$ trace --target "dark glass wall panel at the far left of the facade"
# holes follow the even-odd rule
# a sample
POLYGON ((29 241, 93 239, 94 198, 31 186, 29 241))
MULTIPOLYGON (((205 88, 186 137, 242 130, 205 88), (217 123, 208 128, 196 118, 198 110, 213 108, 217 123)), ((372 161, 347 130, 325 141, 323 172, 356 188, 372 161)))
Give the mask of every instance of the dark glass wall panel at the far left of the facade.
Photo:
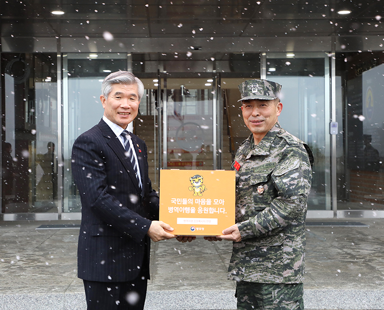
POLYGON ((1 212, 57 212, 56 55, 1 53, 1 212))

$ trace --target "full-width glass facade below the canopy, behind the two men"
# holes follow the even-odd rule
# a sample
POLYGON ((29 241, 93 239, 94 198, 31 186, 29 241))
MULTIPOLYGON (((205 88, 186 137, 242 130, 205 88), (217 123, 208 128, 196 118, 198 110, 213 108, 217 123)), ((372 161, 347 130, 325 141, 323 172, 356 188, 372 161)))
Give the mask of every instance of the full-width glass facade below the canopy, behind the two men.
POLYGON ((280 124, 314 152, 309 209, 383 209, 381 52, 336 53, 335 167, 331 167, 329 54, 265 53, 264 73, 260 53, 178 61, 171 56, 65 53, 63 96, 58 102, 56 54, 1 53, 1 213, 61 211, 63 219, 71 218, 66 214, 76 218, 81 204, 71 176, 72 144, 103 115, 99 96, 105 76, 131 67, 145 85, 132 130, 148 145, 155 189, 160 169, 229 169, 237 148, 248 136, 237 103, 237 85, 264 74, 283 86, 280 124), (259 70, 246 69, 255 66, 259 70), (195 70, 192 73, 191 68, 195 70), (332 205, 333 169, 337 206, 332 205))

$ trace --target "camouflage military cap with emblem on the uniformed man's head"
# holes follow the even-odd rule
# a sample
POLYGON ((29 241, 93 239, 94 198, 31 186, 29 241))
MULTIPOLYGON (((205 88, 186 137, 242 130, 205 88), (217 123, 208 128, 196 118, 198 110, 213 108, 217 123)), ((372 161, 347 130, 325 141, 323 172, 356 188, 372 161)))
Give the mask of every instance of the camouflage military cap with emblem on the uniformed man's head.
POLYGON ((281 85, 276 82, 267 80, 246 80, 239 86, 241 99, 261 99, 261 100, 274 100, 279 98, 281 85))

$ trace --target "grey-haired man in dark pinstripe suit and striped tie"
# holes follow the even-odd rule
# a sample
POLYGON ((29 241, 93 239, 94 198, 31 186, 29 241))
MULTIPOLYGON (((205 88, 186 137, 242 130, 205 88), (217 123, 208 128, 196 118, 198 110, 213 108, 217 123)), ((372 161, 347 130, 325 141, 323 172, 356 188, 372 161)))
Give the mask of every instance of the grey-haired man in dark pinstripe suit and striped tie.
POLYGON ((148 178, 147 147, 129 133, 144 93, 132 73, 109 74, 102 84, 103 119, 72 148, 82 221, 78 277, 88 310, 144 308, 150 239, 175 238, 158 218, 158 196, 148 178))

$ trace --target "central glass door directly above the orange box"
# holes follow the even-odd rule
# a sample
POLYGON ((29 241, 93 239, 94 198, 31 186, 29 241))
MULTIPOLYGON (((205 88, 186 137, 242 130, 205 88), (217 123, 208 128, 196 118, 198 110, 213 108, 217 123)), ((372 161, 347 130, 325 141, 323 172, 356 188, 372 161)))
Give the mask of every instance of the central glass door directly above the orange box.
POLYGON ((162 81, 162 168, 217 169, 212 74, 192 78, 169 74, 162 81))

